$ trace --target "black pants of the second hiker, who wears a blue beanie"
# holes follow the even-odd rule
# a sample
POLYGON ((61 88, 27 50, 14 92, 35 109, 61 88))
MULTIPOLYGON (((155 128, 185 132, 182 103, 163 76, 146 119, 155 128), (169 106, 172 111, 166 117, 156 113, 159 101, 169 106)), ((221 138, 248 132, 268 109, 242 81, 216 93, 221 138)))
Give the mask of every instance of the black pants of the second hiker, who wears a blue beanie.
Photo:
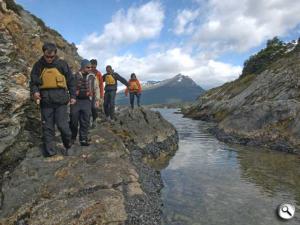
POLYGON ((79 125, 79 141, 88 140, 88 129, 90 126, 91 100, 77 99, 76 104, 71 105, 70 127, 72 139, 76 139, 79 125))

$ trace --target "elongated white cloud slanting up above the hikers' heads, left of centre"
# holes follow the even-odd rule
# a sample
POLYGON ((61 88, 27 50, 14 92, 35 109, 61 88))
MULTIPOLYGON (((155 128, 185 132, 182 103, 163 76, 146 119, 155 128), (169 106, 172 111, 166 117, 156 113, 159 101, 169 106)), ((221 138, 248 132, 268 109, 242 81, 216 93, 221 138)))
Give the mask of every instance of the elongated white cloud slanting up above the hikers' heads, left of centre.
POLYGON ((157 1, 131 7, 127 12, 119 10, 101 35, 93 33, 83 39, 77 46, 79 54, 100 58, 112 54, 120 45, 156 37, 163 27, 163 19, 164 11, 157 1))

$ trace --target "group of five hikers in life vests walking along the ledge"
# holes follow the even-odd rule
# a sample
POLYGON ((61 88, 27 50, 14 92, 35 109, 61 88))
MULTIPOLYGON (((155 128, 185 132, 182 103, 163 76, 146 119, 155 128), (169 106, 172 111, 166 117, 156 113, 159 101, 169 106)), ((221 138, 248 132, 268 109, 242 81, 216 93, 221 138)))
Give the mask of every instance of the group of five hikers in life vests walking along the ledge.
POLYGON ((79 71, 73 74, 67 62, 57 56, 54 43, 45 43, 42 50, 43 56, 33 65, 30 74, 30 92, 40 105, 42 153, 45 157, 56 155, 55 125, 61 133, 63 154, 68 155, 78 133, 80 145, 89 145, 88 130, 96 126, 100 108, 104 108, 107 121, 116 119, 117 81, 126 86, 125 95, 130 95, 131 108, 134 108, 135 97, 140 106, 142 90, 134 73, 127 81, 107 65, 106 73, 102 76, 97 70, 96 59, 83 59, 79 71))

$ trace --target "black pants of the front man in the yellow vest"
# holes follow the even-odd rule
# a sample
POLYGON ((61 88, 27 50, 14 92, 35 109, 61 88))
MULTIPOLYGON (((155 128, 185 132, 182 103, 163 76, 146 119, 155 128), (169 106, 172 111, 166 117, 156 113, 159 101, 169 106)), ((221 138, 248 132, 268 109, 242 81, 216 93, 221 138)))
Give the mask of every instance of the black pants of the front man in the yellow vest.
POLYGON ((60 131, 64 146, 71 141, 71 130, 69 127, 69 116, 67 105, 41 106, 42 129, 43 129, 43 154, 45 156, 54 154, 53 139, 55 136, 55 124, 60 131))

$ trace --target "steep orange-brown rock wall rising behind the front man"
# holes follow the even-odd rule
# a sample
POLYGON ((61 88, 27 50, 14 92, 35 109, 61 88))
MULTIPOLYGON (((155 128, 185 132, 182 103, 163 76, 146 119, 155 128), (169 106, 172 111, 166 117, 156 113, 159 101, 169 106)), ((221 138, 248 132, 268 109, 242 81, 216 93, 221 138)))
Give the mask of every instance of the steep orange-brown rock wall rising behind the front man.
MULTIPOLYGON (((28 78, 33 63, 42 55, 45 41, 58 46, 58 55, 77 69, 80 57, 56 31, 16 5, 0 0, 0 154, 22 139, 30 104, 28 78)), ((38 115, 38 114, 37 114, 38 115)))

